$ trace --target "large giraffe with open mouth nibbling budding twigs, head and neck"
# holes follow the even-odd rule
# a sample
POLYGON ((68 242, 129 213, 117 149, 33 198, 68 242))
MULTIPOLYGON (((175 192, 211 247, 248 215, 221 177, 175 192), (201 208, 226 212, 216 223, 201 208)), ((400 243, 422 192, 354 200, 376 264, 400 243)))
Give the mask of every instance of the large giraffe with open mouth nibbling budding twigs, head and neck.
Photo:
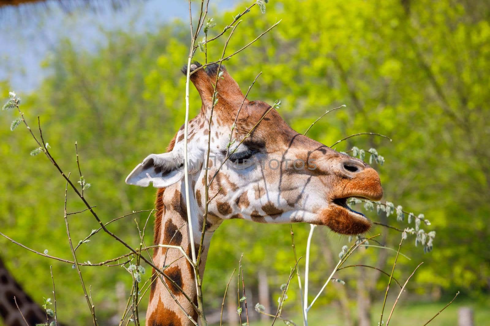
MULTIPOLYGON (((181 246, 189 256, 190 241, 198 247, 206 204, 205 187, 214 174, 216 177, 209 186, 212 200, 204 226, 201 276, 211 237, 225 219, 259 223, 307 222, 325 225, 345 235, 368 231, 371 226, 368 218, 350 209, 346 200, 349 197, 381 199, 383 189, 374 169, 362 160, 336 152, 294 131, 267 103, 245 99, 224 65, 202 67, 193 62, 190 67, 191 81, 202 102, 200 112, 189 121, 187 139, 194 239, 189 238, 184 191, 184 126, 173 137, 167 152, 148 155, 126 178, 130 185, 147 187, 152 183, 158 188, 155 244, 181 246), (218 102, 214 106, 211 130, 208 130, 219 68, 222 75, 216 86, 218 102), (228 149, 231 132, 236 141, 228 149), (205 180, 208 135, 211 136, 210 160, 205 180), (227 152, 231 156, 219 170, 227 152)), ((182 70, 186 73, 187 66, 182 70)), ((194 270, 177 249, 157 248, 153 261, 160 268, 165 266, 165 273, 196 302, 194 270)), ((154 270, 151 278, 154 282, 151 283, 146 325, 193 325, 182 311, 197 321, 189 301, 172 283, 164 280, 166 284, 163 284, 154 270)))

